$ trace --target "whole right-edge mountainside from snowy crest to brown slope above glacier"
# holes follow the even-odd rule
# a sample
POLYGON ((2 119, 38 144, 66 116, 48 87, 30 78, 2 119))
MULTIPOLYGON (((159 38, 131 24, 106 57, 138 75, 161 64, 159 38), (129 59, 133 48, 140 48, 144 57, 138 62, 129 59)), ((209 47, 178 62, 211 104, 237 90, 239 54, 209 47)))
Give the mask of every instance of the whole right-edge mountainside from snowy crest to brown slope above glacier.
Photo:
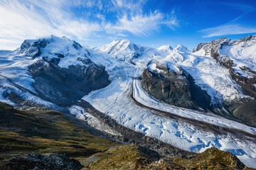
POLYGON ((225 108, 236 118, 256 123, 256 35, 240 40, 220 38, 212 42, 200 43, 193 53, 213 57, 229 71, 233 81, 239 84, 245 95, 252 98, 235 98, 225 102, 225 108), (254 98, 254 99, 253 99, 254 98))

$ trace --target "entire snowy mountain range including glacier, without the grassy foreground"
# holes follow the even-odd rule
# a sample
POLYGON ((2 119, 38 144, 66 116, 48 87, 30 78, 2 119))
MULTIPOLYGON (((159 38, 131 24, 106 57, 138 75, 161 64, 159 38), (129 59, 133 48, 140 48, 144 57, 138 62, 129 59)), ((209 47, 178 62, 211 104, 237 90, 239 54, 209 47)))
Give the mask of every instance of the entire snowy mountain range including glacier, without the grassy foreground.
POLYGON ((99 49, 65 37, 25 40, 0 52, 0 101, 63 109, 97 124, 107 118, 73 104, 86 101, 112 119, 105 123, 191 152, 217 147, 256 167, 255 99, 234 79, 254 77, 255 49, 255 36, 201 43, 193 52, 129 40, 99 49))

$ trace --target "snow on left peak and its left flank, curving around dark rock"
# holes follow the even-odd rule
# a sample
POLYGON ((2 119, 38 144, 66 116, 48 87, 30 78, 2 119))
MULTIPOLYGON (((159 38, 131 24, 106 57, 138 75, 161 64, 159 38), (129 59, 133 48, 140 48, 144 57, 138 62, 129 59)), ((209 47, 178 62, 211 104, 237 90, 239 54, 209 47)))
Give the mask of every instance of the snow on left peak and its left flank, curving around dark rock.
MULTIPOLYGON (((0 89, 1 101, 9 101, 8 94, 14 92, 26 101, 32 101, 44 106, 54 106, 53 103, 44 101, 38 97, 33 84, 35 79, 28 72, 28 67, 40 61, 47 61, 57 64, 60 68, 68 68, 71 65, 86 67, 90 64, 91 54, 87 48, 82 47, 78 42, 68 38, 58 38, 51 35, 49 38, 39 40, 24 40, 21 47, 14 51, 0 52, 0 89), (21 91, 10 83, 31 91, 31 93, 21 91), (24 94, 22 94, 24 93, 24 94)), ((52 107, 57 108, 57 107, 52 107)))

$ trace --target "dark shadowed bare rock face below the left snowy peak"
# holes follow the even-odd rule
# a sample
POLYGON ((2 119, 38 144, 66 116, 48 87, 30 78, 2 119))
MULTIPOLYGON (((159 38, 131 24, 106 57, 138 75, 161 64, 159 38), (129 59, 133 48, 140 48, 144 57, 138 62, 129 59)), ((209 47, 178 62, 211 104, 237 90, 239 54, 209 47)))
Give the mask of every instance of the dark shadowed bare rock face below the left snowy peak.
POLYGON ((42 59, 28 67, 28 74, 35 80, 33 88, 46 101, 65 106, 110 84, 105 67, 84 61, 86 65, 60 68, 55 62, 42 59))

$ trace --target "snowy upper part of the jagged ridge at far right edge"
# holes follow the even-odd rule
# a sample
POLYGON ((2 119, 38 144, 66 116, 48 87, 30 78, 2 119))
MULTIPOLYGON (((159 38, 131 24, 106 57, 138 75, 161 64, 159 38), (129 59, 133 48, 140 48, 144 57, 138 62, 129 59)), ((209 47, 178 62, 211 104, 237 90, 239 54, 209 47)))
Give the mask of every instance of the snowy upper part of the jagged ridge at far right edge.
POLYGON ((240 40, 230 40, 220 38, 212 42, 200 43, 193 52, 196 55, 211 56, 214 52, 219 53, 220 57, 228 56, 233 60, 233 69, 244 77, 254 77, 251 72, 246 72, 241 68, 249 68, 256 72, 256 35, 249 35, 240 40))

